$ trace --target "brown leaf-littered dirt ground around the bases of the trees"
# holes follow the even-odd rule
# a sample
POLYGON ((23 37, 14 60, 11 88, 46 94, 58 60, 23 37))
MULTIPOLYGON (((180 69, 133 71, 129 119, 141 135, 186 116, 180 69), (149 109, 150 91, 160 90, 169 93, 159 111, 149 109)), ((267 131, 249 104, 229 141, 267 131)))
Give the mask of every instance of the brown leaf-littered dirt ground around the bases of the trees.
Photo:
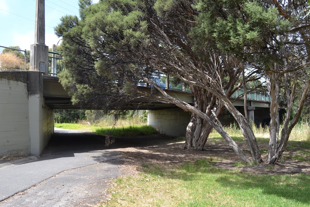
MULTIPOLYGON (((125 160, 127 170, 131 170, 132 174, 142 170, 142 164, 158 164, 158 165, 178 165, 184 162, 193 162, 198 159, 211 159, 214 160, 214 166, 217 168, 242 170, 249 173, 264 173, 264 174, 294 174, 294 173, 307 173, 310 174, 310 162, 292 160, 294 155, 298 155, 296 151, 299 148, 289 147, 283 157, 281 163, 277 165, 267 165, 265 163, 256 165, 242 165, 240 159, 236 156, 234 151, 223 140, 210 140, 206 142, 203 151, 184 150, 185 142, 165 142, 156 143, 156 137, 145 136, 145 139, 152 140, 149 146, 136 146, 126 147, 121 146, 116 149, 125 160), (239 164, 238 164, 239 163, 239 164)), ((132 137, 135 139, 134 137, 132 137)), ((168 139, 168 137, 167 137, 168 139)), ((161 139, 162 140, 162 139, 161 139)), ((115 143, 117 148, 118 143, 115 143)), ((247 150, 246 142, 237 142, 237 144, 245 151, 250 157, 250 151, 247 150)), ((263 160, 267 159, 268 142, 259 143, 259 148, 265 150, 262 153, 263 160)))

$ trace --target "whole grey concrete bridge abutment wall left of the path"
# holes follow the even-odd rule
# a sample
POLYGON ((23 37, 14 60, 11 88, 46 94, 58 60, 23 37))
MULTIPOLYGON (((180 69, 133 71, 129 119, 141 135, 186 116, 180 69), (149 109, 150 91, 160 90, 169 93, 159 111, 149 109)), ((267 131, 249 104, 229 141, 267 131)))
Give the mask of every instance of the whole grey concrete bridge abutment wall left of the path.
POLYGON ((0 155, 40 155, 54 132, 39 71, 0 72, 0 155))

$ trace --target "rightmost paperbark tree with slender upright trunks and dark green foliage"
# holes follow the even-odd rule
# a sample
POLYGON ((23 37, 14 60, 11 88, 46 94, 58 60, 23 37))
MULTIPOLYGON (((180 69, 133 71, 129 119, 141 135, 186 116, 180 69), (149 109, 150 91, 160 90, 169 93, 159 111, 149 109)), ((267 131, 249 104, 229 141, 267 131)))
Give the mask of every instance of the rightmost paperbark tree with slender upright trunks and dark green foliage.
POLYGON ((309 90, 309 19, 304 1, 216 1, 215 7, 207 7, 210 2, 213 1, 198 4, 201 19, 210 23, 203 25, 204 31, 213 35, 222 50, 238 54, 266 74, 271 96, 267 161, 275 164, 299 120, 309 90), (296 87, 303 91, 298 99, 296 87), (281 92, 284 92, 282 99, 281 92), (286 102, 287 113, 279 142, 281 100, 286 102), (290 121, 294 101, 299 106, 290 121))

